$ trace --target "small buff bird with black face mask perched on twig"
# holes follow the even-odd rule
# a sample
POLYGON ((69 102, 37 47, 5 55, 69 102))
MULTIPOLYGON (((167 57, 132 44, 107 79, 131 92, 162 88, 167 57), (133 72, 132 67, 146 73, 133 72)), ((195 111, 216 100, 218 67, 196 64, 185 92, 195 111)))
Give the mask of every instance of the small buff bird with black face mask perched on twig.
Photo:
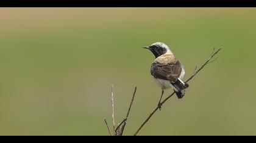
POLYGON ((187 83, 182 81, 185 68, 163 42, 155 42, 143 48, 150 50, 155 56, 151 64, 151 75, 156 84, 162 89, 162 95, 158 102, 158 107, 161 110, 161 100, 165 90, 172 88, 179 99, 185 95, 185 89, 189 87, 187 83))

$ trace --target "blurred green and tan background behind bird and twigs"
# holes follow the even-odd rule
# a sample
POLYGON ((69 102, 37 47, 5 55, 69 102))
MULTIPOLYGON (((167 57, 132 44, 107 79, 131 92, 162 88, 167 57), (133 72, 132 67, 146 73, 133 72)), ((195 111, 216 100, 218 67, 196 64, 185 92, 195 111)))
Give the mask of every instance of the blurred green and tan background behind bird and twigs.
MULTIPOLYGON (((124 135, 156 107, 143 46, 165 42, 185 79, 139 135, 256 135, 256 8, 0 8, 0 135, 108 135, 137 96, 124 135)), ((165 93, 165 97, 172 90, 165 93)))

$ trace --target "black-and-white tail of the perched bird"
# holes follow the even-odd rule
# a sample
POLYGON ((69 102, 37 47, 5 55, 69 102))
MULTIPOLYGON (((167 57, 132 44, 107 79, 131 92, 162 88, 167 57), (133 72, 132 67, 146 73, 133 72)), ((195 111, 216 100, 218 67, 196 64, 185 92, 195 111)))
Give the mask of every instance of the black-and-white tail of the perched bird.
POLYGON ((177 98, 181 99, 185 95, 185 89, 189 87, 187 83, 184 83, 182 80, 179 78, 177 81, 172 84, 174 86, 173 90, 177 95, 177 98))

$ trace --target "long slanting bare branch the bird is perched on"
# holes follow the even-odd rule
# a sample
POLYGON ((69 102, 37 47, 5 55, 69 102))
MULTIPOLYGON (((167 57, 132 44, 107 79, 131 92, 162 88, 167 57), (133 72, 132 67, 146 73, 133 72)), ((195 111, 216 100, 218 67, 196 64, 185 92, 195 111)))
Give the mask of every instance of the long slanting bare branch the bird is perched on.
MULTIPOLYGON (((185 81, 185 82, 188 82, 188 81, 190 81, 191 79, 193 79, 194 76, 196 76, 197 73, 199 73, 199 71, 201 71, 202 68, 205 67, 205 65, 210 64, 210 60, 211 60, 221 49, 222 49, 222 48, 219 48, 219 49, 215 52, 215 48, 213 48, 213 52, 212 52, 212 55, 210 56, 210 58, 208 58, 207 61, 206 61, 204 64, 202 64, 201 67, 200 67, 198 70, 196 70, 196 72, 194 72, 193 75, 192 75, 190 78, 188 78, 187 81, 185 81)), ((215 61, 215 60, 213 60, 213 61, 215 61)), ((213 62, 213 61, 211 61, 211 62, 213 62)), ((160 103, 160 105, 162 106, 169 98, 171 98, 172 95, 174 95, 174 92, 173 92, 171 95, 169 95, 167 98, 165 98, 165 99, 160 103)), ((141 126, 138 128, 138 130, 134 133, 134 136, 136 136, 136 135, 138 134, 138 132, 141 130, 141 128, 143 128, 144 125, 149 121, 149 119, 151 119, 151 117, 154 115, 154 113, 158 110, 159 107, 160 107, 160 106, 157 106, 157 107, 152 111, 152 113, 148 116, 148 118, 143 122, 143 124, 141 124, 141 126)))

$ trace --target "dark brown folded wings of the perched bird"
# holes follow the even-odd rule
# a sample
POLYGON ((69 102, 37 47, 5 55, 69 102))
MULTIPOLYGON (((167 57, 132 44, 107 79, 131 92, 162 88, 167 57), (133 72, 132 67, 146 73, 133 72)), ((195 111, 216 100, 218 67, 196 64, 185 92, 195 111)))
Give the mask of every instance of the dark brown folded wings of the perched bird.
POLYGON ((172 83, 177 81, 181 72, 182 65, 177 60, 168 64, 161 64, 155 61, 151 65, 151 75, 154 76, 154 78, 169 80, 172 83))

